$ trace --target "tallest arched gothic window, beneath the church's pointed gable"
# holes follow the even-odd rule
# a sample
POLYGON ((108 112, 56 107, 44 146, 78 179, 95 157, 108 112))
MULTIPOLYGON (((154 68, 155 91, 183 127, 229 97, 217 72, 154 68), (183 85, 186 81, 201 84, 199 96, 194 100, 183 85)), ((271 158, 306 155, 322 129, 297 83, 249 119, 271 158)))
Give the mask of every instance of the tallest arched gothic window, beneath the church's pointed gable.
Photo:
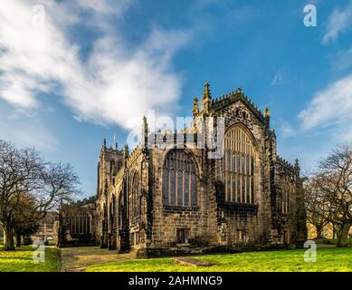
POLYGON ((240 126, 224 136, 222 176, 226 202, 254 203, 254 146, 240 126))

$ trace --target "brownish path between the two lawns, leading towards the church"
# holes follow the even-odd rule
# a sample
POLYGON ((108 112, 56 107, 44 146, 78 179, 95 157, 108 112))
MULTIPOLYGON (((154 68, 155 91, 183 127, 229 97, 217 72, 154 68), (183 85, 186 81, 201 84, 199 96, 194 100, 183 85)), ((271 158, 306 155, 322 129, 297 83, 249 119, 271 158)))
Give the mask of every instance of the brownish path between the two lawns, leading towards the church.
POLYGON ((116 250, 100 247, 62 248, 62 271, 84 272, 87 266, 134 258, 133 254, 117 254, 116 250))

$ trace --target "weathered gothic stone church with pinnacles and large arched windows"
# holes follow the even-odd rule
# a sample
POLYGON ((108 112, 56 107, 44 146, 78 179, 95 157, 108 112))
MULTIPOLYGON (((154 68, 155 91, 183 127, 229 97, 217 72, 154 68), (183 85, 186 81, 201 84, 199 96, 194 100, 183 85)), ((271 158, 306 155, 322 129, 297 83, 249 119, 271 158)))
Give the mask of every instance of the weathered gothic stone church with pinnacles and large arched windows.
POLYGON ((224 118, 221 159, 208 158, 206 142, 203 148, 177 146, 185 143, 184 133, 165 133, 171 142, 158 146, 146 119, 141 145, 132 152, 104 140, 91 228, 100 247, 159 256, 303 244, 299 162, 277 155, 269 110, 262 113, 240 88, 213 99, 208 83, 201 102, 199 108, 195 99, 194 119, 224 118))

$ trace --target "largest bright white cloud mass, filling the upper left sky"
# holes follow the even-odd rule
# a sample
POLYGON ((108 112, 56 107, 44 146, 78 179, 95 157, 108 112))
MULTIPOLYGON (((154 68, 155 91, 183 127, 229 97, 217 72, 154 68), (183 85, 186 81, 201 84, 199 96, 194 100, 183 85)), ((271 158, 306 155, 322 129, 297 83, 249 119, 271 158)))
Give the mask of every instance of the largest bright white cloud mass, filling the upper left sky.
POLYGON ((55 94, 77 120, 126 129, 135 127, 148 109, 172 111, 181 78, 172 70, 171 58, 190 34, 153 28, 144 43, 131 47, 105 14, 121 13, 133 1, 77 1, 39 1, 46 12, 43 27, 32 22, 38 1, 0 2, 0 98, 15 108, 34 110, 40 105, 39 92, 55 94), (109 26, 91 43, 85 62, 81 47, 69 37, 73 24, 85 21, 81 7, 109 26))

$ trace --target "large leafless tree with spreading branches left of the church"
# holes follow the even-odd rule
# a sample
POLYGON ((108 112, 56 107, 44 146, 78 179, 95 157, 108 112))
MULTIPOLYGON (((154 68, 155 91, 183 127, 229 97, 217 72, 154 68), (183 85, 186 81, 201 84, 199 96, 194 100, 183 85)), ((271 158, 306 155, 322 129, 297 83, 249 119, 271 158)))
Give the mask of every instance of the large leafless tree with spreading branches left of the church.
POLYGON ((4 250, 14 250, 14 228, 25 198, 33 201, 25 211, 26 224, 36 223, 46 211, 80 194, 80 182, 70 164, 43 161, 33 149, 18 150, 0 140, 0 222, 5 233, 4 250))

